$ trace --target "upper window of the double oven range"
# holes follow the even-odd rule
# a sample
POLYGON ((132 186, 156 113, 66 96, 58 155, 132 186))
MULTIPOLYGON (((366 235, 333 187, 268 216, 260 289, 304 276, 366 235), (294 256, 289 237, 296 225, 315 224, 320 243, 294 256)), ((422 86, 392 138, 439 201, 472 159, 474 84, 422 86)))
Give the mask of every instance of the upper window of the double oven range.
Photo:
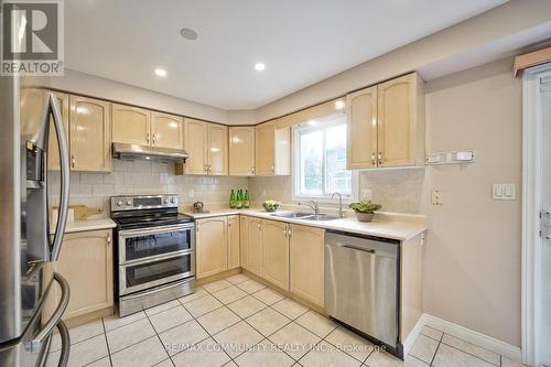
POLYGON ((192 248, 192 229, 127 238, 126 261, 192 248))

